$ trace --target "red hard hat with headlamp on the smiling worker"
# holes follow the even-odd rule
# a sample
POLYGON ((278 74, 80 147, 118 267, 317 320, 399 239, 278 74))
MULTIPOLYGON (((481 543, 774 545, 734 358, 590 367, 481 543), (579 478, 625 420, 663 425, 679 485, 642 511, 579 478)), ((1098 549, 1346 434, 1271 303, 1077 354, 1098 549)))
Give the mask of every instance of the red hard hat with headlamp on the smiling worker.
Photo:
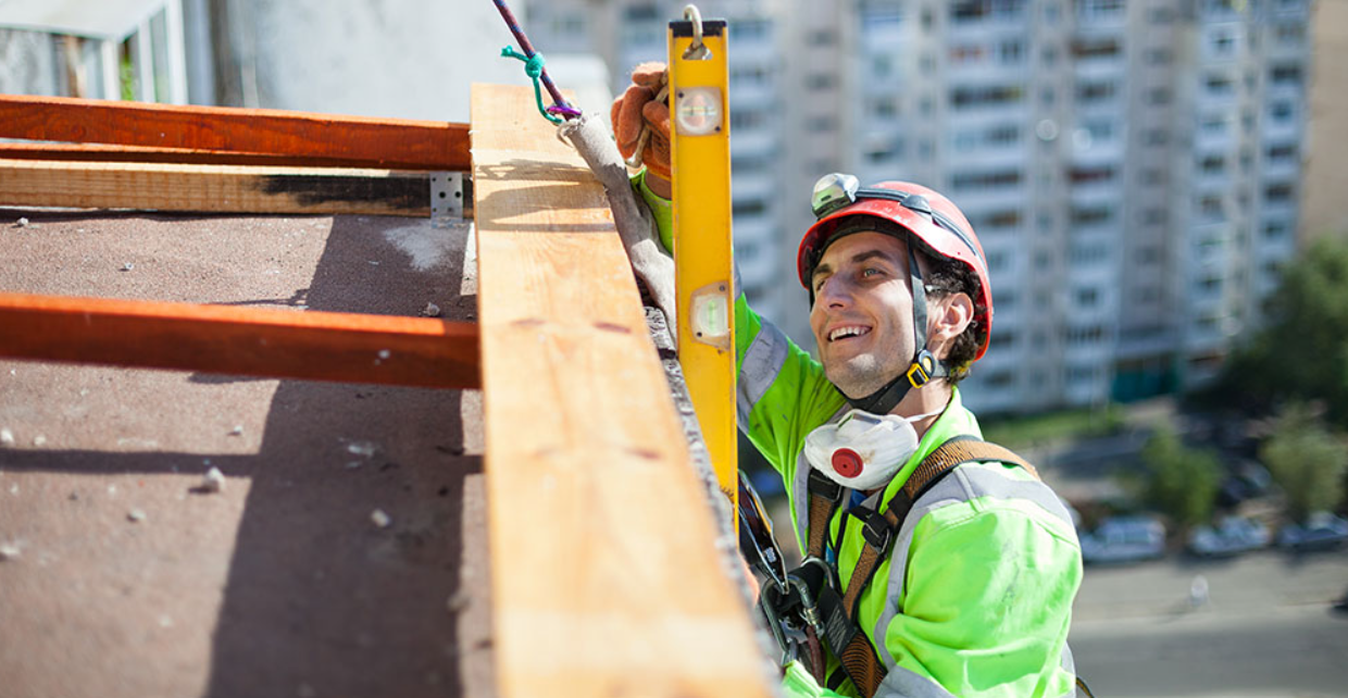
POLYGON ((973 234, 973 226, 950 199, 911 182, 880 182, 859 187, 857 179, 852 175, 830 174, 814 185, 813 209, 818 220, 805 232, 795 256, 797 274, 806 290, 810 288, 814 267, 834 240, 833 233, 838 230, 844 218, 874 216, 891 221, 921 241, 926 252, 960 261, 977 276, 987 313, 973 318, 985 329, 983 344, 973 360, 983 358, 988 350, 988 337, 992 336, 992 284, 988 279, 988 263, 983 255, 983 245, 973 234))

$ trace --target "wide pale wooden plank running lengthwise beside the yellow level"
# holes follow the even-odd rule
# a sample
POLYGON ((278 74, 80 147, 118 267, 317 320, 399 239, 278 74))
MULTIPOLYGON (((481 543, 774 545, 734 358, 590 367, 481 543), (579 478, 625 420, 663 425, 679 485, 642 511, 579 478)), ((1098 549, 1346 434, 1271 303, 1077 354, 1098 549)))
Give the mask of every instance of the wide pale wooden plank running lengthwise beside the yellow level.
POLYGON ((768 695, 603 187, 531 90, 472 120, 500 694, 768 695))

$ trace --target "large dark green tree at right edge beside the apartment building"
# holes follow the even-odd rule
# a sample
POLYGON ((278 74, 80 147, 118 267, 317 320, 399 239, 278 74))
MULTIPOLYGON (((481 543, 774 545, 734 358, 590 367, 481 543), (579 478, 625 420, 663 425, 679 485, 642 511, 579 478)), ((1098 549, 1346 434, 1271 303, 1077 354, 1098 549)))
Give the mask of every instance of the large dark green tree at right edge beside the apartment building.
POLYGON ((1259 412, 1320 400, 1333 422, 1348 420, 1348 241, 1320 240, 1289 265, 1266 317, 1208 398, 1259 412))

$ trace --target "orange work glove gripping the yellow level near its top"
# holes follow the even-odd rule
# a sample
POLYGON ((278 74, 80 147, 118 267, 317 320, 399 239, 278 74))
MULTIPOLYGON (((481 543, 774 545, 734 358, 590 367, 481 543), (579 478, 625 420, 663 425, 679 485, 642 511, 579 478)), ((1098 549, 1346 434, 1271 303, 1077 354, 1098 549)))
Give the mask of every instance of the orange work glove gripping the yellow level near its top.
POLYGON ((661 62, 652 61, 636 66, 632 70, 632 85, 621 97, 613 100, 609 115, 613 120, 613 135, 617 137, 617 151, 623 158, 631 164, 632 155, 640 150, 646 170, 663 179, 670 179, 667 75, 665 63, 661 62))

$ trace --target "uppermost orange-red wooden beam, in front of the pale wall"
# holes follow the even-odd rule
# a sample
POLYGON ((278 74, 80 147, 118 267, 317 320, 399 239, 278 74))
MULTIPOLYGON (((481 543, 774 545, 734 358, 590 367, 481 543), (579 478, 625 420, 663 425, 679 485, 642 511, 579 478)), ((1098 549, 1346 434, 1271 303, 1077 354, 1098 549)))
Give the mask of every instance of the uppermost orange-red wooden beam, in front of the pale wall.
POLYGON ((0 137, 360 160, 371 167, 468 170, 468 125, 0 94, 0 137))

